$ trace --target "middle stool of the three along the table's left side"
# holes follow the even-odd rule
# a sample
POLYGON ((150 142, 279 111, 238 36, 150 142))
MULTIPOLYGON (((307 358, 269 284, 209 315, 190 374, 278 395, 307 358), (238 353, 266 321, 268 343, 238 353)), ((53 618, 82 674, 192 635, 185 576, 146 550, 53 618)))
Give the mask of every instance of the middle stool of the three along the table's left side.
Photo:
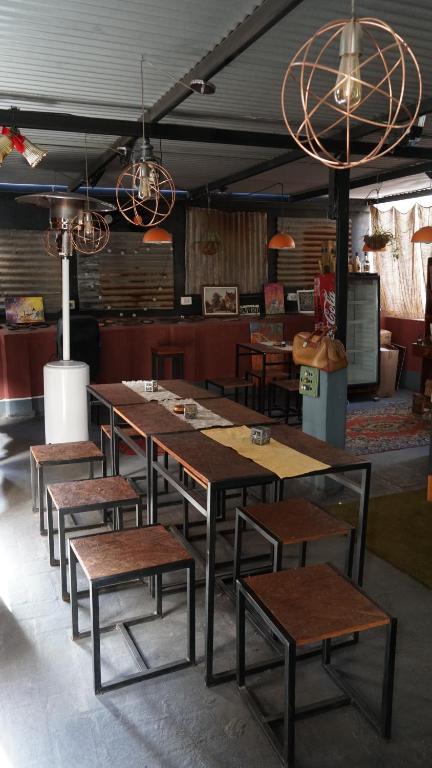
POLYGON ((54 483, 47 486, 47 519, 50 565, 58 565, 60 562, 60 577, 62 598, 69 601, 66 576, 66 533, 70 531, 91 530, 106 525, 106 522, 90 525, 77 525, 72 528, 65 527, 66 515, 90 512, 96 509, 116 509, 115 525, 123 527, 123 511, 125 507, 134 506, 136 511, 136 525, 142 525, 142 509, 140 494, 131 480, 124 477, 101 477, 97 480, 79 480, 74 483, 54 483), (53 507, 58 513, 58 535, 60 561, 54 558, 54 528, 53 507))

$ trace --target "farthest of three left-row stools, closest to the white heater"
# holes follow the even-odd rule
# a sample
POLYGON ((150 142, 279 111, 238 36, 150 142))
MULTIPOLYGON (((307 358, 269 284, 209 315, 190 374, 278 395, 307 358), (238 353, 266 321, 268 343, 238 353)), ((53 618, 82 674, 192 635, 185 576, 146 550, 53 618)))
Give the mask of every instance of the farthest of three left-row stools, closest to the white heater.
POLYGON ((102 474, 105 475, 106 463, 103 451, 88 440, 77 443, 48 443, 48 445, 32 445, 30 447, 32 511, 39 512, 41 536, 47 535, 44 518, 44 468, 56 467, 61 464, 90 464, 90 477, 93 477, 95 461, 101 462, 102 474), (39 501, 39 506, 36 505, 36 499, 39 501))

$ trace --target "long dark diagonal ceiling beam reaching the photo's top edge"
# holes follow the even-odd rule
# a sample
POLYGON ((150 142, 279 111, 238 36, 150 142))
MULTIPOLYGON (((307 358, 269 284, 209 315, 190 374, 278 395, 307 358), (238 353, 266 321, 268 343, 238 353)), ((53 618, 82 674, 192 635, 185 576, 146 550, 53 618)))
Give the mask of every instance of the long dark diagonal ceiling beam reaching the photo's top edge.
MULTIPOLYGON (((237 56, 247 50, 253 43, 259 40, 281 19, 297 8, 303 0, 263 0, 261 5, 254 10, 243 22, 237 25, 221 42, 213 48, 201 61, 199 61, 186 75, 185 78, 208 80, 224 67, 234 61, 237 56)), ((192 91, 177 82, 164 96, 162 96, 146 113, 149 123, 157 123, 182 101, 191 95, 192 91)), ((100 178, 106 167, 118 156, 117 149, 120 146, 133 145, 130 135, 124 134, 112 145, 112 150, 104 152, 89 166, 89 177, 100 178)), ((83 178, 76 177, 69 190, 77 189, 83 182, 83 178)))

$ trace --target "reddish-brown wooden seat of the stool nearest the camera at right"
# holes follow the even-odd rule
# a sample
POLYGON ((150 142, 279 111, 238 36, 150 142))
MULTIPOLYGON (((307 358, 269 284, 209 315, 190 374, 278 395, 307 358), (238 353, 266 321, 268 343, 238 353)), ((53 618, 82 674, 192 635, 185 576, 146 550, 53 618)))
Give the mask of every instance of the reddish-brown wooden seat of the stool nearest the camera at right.
POLYGON ((250 576, 245 584, 297 646, 390 623, 388 614, 327 563, 250 576))

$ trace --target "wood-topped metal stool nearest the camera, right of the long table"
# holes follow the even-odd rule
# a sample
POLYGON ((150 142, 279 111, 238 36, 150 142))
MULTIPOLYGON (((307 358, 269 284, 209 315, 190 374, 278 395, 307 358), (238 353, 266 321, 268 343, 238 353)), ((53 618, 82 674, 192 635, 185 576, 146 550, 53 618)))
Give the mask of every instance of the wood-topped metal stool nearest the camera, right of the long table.
MULTIPOLYGON (((295 764, 295 722, 345 704, 354 704, 385 738, 390 738, 396 619, 328 564, 267 573, 237 581, 237 684, 285 766, 295 764), (258 615, 283 647, 284 708, 274 717, 264 712, 245 684, 245 608, 258 615), (381 713, 375 714, 346 677, 331 666, 331 639, 376 627, 386 628, 381 713), (296 707, 297 648, 322 643, 322 665, 342 695, 296 707), (252 698, 253 696, 253 698, 252 698), (283 723, 283 743, 273 725, 283 723)), ((301 657, 300 657, 301 658, 301 657)), ((270 666, 270 664, 269 664, 270 666)), ((273 661, 274 668, 274 661, 273 661)), ((262 665, 260 666, 260 672, 262 665)))

